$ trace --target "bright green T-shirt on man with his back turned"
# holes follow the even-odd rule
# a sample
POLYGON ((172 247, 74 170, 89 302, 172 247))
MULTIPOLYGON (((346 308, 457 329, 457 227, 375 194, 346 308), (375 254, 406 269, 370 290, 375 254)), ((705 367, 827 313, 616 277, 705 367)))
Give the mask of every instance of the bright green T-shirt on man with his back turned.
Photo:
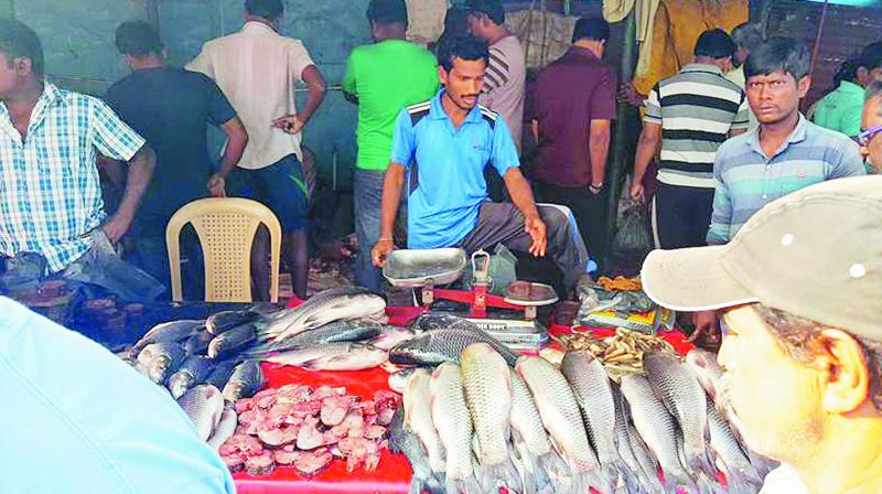
POLYGON ((358 98, 356 167, 385 171, 398 114, 434 96, 438 62, 421 46, 388 40, 356 47, 347 65, 343 90, 358 98))

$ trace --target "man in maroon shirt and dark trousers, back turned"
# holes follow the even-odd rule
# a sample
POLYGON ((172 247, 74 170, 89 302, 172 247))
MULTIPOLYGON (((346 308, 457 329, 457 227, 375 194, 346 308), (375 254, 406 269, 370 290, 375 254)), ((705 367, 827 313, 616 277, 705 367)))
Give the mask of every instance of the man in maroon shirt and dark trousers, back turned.
POLYGON ((601 62, 610 24, 580 19, 572 46, 536 79, 529 118, 539 157, 537 200, 572 210, 595 259, 604 259, 604 173, 615 118, 615 74, 601 62))

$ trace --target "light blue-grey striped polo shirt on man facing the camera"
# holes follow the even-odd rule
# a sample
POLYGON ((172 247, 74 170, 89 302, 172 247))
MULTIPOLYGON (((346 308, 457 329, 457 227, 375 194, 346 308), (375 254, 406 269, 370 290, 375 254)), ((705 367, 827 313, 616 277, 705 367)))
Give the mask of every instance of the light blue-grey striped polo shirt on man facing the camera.
POLYGON ((716 192, 708 244, 729 243, 751 216, 778 197, 818 182, 863 174, 863 159, 854 141, 802 115, 790 137, 771 158, 760 146, 760 129, 734 137, 720 147, 713 165, 716 192))

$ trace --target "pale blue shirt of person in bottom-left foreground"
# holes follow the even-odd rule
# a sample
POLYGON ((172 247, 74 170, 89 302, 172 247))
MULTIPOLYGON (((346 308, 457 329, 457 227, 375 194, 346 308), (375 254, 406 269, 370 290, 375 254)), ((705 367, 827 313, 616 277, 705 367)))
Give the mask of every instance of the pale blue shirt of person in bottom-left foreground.
POLYGON ((3 493, 235 492, 168 391, 9 299, 0 314, 3 493))

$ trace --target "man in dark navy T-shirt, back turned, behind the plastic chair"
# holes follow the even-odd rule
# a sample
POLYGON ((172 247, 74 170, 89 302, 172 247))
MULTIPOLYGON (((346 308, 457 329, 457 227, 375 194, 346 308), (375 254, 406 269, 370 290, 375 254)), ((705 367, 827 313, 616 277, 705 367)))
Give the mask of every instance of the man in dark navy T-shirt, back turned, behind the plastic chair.
MULTIPOLYGON (((168 283, 169 218, 181 206, 209 193, 225 195, 225 179, 239 162, 248 135, 214 80, 203 74, 164 66, 162 42, 150 24, 123 23, 117 30, 116 44, 132 73, 107 90, 107 103, 157 153, 153 181, 144 194, 132 232, 135 241, 130 245, 138 254, 140 267, 168 283), (206 122, 220 127, 227 136, 217 172, 212 172, 206 122)), ((195 236, 184 238, 187 266, 197 268, 202 255, 195 236)), ((198 269, 185 270, 182 278, 190 289, 185 293, 202 298, 198 269)))

